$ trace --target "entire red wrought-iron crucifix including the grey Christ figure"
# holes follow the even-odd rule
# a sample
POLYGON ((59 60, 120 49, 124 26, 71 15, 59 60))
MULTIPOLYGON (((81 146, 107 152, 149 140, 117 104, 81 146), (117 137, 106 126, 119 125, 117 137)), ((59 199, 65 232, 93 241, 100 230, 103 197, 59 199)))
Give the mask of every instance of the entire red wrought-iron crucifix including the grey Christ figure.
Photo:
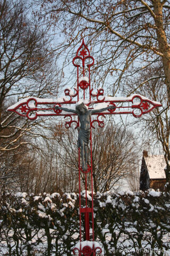
POLYGON ((24 98, 7 110, 30 120, 35 120, 38 116, 64 116, 64 118, 67 118, 67 121, 65 121, 66 128, 70 128, 72 124, 75 124, 75 129, 78 130, 80 242, 74 246, 73 254, 95 256, 100 255, 102 250, 100 244, 94 241, 92 129, 95 129, 95 123, 99 127, 104 127, 106 115, 132 114, 138 118, 162 105, 139 94, 133 94, 127 98, 117 98, 105 96, 103 88, 98 88, 94 92, 90 81, 90 68, 94 65, 94 58, 90 55, 84 40, 82 40, 82 44, 72 62, 77 68, 77 87, 73 88, 74 91, 68 87, 64 90, 65 96, 57 99, 24 98), (91 116, 97 117, 95 119, 91 116), (75 119, 76 117, 78 118, 75 119), (81 205, 81 173, 85 175, 86 205, 84 207, 81 205), (90 207, 87 200, 87 175, 90 175, 91 182, 90 207), (86 241, 82 241, 81 214, 84 214, 86 241), (89 214, 91 214, 92 219, 91 236, 89 214))

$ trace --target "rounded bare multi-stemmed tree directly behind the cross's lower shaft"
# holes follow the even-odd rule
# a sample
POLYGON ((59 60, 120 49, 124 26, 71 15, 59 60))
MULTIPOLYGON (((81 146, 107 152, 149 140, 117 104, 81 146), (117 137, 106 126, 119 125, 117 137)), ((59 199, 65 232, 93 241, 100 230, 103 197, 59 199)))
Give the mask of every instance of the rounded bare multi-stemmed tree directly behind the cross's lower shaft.
MULTIPOLYGON (((66 168, 66 176, 63 178, 70 183, 70 189, 76 191, 78 189, 77 131, 64 129, 63 126, 56 128, 56 143, 60 145, 57 154, 66 168)), ((137 140, 131 131, 112 124, 107 124, 104 129, 93 129, 92 170, 95 192, 112 189, 118 181, 128 178, 131 169, 134 168, 134 159, 137 158, 137 140)), ((84 183, 84 174, 81 175, 84 183)), ((90 189, 89 183, 88 189, 90 189)))

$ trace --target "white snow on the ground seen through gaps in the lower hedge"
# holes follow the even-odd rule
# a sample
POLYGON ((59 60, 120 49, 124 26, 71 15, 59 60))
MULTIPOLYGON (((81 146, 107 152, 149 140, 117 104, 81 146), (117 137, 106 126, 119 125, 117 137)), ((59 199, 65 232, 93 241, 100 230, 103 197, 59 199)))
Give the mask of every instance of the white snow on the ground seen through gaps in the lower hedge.
MULTIPOLYGON (((136 223, 130 223, 130 222, 125 222, 125 229, 124 229, 124 233, 121 234, 120 238, 118 239, 118 243, 117 243, 117 250, 119 250, 119 252, 122 253, 122 255, 128 255, 128 256, 131 256, 133 252, 136 252, 138 253, 139 250, 143 250, 144 252, 146 253, 150 253, 150 254, 147 254, 149 256, 152 256, 152 255, 159 255, 159 254, 152 254, 154 251, 159 253, 159 250, 158 248, 154 248, 154 249, 151 249, 150 246, 147 244, 146 241, 142 241, 142 249, 138 249, 138 247, 134 248, 134 244, 133 244, 133 241, 131 241, 131 239, 128 238, 128 233, 133 233, 133 234, 136 234, 137 233, 137 229, 135 228, 135 225, 136 223)), ((122 229, 122 227, 118 227, 118 228, 115 228, 115 234, 116 234, 116 237, 117 235, 120 233, 120 229, 122 229)), ((54 229, 50 229, 50 233, 53 233, 54 232, 54 229)), ((90 233, 92 233, 92 230, 90 229, 90 233)), ((8 236, 13 236, 13 232, 10 231, 10 233, 8 234, 8 236)), ((109 241, 111 241, 111 233, 109 233, 109 229, 107 228, 107 226, 105 227, 105 229, 102 230, 102 234, 103 236, 105 236, 106 234, 106 243, 108 244, 109 241)), ((77 239, 79 236, 78 233, 75 233, 72 238, 75 238, 77 239)), ((149 233, 148 234, 145 234, 145 236, 149 236, 149 233)), ((25 235, 23 234, 23 237, 25 237, 25 235)), ((163 242, 164 244, 169 244, 169 241, 170 241, 170 234, 169 235, 166 235, 163 237, 163 242)), ((88 245, 91 245, 92 242, 88 242, 88 245)), ((39 230, 38 234, 35 235, 35 237, 33 237, 32 241, 30 241, 30 244, 32 244, 32 247, 33 247, 33 251, 36 252, 36 256, 43 256, 45 255, 44 253, 46 252, 46 249, 47 249, 47 239, 46 239, 46 236, 44 234, 44 230, 41 229, 39 230), (37 239, 40 238, 41 239, 41 242, 34 246, 33 244, 35 244, 37 242, 37 239)), ((55 239, 52 240, 52 244, 55 245, 55 239)), ((61 244, 61 247, 64 246, 63 242, 62 241, 58 241, 58 244, 61 244)), ((13 244, 11 244, 13 246, 13 244)), ((87 245, 87 242, 84 241, 82 242, 82 245, 87 245)), ((77 243, 76 245, 75 244, 72 244, 72 249, 74 247, 79 247, 80 246, 80 243, 77 243)), ((104 256, 105 255, 105 251, 104 251, 104 248, 103 248, 103 245, 100 243, 100 241, 97 241, 95 242, 95 247, 98 247, 100 246, 103 253, 101 254, 101 256, 104 256)), ((109 252, 112 252, 112 253, 115 253, 115 249, 114 247, 111 247, 110 245, 109 246, 109 252)), ((8 252, 7 249, 7 244, 5 243, 5 241, 0 241, 0 255, 7 255, 6 253, 8 252)), ((13 248, 14 250, 14 248, 13 248)), ((118 252, 118 251, 117 251, 118 252)), ((27 255, 27 251, 23 249, 22 251, 22 255, 23 256, 26 256, 27 255)), ((56 255, 56 252, 53 250, 53 252, 50 254, 51 256, 55 256, 56 255)), ((73 253, 72 253, 73 255, 73 253)), ((114 255, 114 254, 113 254, 114 255)), ((62 256, 67 256, 66 254, 63 254, 62 256)), ((170 256, 170 250, 168 251, 164 251, 164 256, 170 256)))

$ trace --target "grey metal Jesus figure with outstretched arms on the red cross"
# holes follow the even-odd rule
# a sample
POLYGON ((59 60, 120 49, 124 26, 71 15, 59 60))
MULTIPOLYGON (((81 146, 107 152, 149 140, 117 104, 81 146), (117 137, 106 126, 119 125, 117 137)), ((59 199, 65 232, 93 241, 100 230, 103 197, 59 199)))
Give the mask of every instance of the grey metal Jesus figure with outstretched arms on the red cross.
POLYGON ((78 135, 78 148, 81 148, 81 159, 82 159, 82 170, 87 170, 87 162, 89 157, 89 140, 90 140, 90 118, 92 114, 101 113, 107 109, 115 109, 115 106, 109 106, 107 108, 101 108, 96 110, 88 110, 84 103, 80 103, 74 109, 63 108, 60 106, 56 106, 55 109, 61 109, 67 112, 75 113, 79 117, 79 121, 81 126, 78 127, 79 135, 78 135))

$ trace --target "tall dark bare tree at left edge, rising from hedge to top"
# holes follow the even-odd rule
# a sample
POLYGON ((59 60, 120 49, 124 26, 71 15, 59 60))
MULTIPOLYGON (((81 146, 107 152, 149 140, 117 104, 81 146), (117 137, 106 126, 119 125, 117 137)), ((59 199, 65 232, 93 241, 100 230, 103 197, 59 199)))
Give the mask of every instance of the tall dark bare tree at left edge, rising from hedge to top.
POLYGON ((57 95, 52 39, 28 3, 0 0, 0 190, 35 189, 38 153, 30 151, 41 148, 38 138, 48 137, 49 123, 29 122, 6 109, 21 98, 57 95))

